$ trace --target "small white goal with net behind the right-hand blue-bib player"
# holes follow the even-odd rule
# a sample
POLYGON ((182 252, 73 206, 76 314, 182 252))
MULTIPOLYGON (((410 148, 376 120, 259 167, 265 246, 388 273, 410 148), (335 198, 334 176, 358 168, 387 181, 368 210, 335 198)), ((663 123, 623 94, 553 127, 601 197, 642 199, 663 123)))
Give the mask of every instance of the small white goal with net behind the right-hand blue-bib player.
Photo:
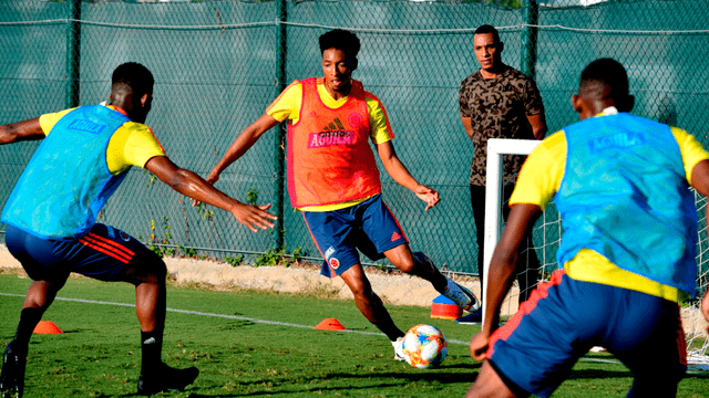
MULTIPOLYGON (((501 139, 491 138, 487 140, 487 189, 485 190, 485 241, 483 242, 484 255, 484 280, 483 292, 487 292, 487 268, 497 241, 504 228, 502 217, 503 206, 503 187, 507 184, 504 180, 503 161, 505 155, 528 155, 540 144, 538 140, 524 139, 501 139), (496 189, 492 189, 495 187, 496 189)), ((707 220, 705 218, 705 208, 707 198, 695 192, 695 203, 697 206, 697 214, 699 217, 699 247, 697 248, 697 294, 698 298, 688 303, 681 303, 681 317, 687 338, 687 359, 690 368, 709 370, 709 337, 707 336, 707 323, 701 314, 700 303, 701 294, 707 290, 707 281, 709 280, 709 238, 707 237, 707 220)), ((536 255, 538 260, 538 269, 525 272, 536 273, 537 282, 548 279, 552 272, 559 268, 556 262, 556 250, 558 249, 562 237, 562 222, 556 206, 549 203, 547 209, 542 213, 534 224, 532 232, 532 242, 528 250, 520 253, 523 259, 536 255)), ((512 315, 518 306, 520 285, 515 280, 513 289, 505 297, 502 306, 501 315, 512 315)), ((483 304, 486 301, 483 300, 483 304)), ((483 311, 484 316, 484 311, 483 311)))

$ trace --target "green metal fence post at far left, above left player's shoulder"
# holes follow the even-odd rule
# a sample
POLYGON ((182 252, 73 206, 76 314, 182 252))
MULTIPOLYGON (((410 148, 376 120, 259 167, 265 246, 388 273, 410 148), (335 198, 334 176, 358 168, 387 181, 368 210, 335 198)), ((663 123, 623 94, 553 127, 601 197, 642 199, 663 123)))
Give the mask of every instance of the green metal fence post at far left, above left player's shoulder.
POLYGON ((79 106, 79 73, 81 70, 81 0, 68 1, 66 22, 66 108, 79 106))

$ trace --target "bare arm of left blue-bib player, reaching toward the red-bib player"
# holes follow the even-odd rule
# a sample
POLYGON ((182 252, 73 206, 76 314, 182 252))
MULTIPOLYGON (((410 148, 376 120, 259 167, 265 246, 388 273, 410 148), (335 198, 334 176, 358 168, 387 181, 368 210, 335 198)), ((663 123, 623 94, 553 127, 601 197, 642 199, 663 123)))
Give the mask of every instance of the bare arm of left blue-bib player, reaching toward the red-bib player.
POLYGON ((270 203, 263 206, 242 203, 217 190, 196 174, 177 167, 166 156, 151 158, 145 164, 145 168, 177 192, 230 212, 238 222, 254 232, 258 231, 256 228, 263 230, 274 228, 271 220, 276 220, 277 217, 266 212, 270 203))

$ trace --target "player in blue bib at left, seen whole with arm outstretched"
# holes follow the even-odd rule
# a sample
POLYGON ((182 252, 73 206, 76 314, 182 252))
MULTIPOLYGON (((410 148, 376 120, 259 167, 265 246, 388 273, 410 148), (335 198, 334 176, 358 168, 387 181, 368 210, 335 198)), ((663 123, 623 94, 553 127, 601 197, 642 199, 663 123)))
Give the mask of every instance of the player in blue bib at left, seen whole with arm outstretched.
POLYGON ((145 168, 179 193, 229 211, 240 223, 274 228, 269 205, 242 203, 182 169, 144 125, 153 75, 134 62, 116 67, 109 104, 80 106, 0 126, 0 145, 43 139, 10 195, 2 222, 6 244, 32 283, 17 334, 2 356, 0 394, 21 397, 34 326, 71 272, 135 285, 141 323, 141 395, 182 389, 199 371, 163 364, 165 275, 163 260, 127 233, 96 223, 96 216, 132 166, 145 168))

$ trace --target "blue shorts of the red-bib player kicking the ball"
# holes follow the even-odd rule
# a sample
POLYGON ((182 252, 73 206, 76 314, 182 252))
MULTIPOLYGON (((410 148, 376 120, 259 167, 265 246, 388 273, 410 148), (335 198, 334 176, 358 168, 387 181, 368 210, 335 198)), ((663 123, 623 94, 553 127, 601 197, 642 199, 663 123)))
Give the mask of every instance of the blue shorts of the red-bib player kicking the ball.
POLYGON ((357 249, 377 261, 387 250, 409 242, 381 195, 346 209, 304 211, 302 217, 325 259, 320 273, 329 277, 359 264, 357 249))

